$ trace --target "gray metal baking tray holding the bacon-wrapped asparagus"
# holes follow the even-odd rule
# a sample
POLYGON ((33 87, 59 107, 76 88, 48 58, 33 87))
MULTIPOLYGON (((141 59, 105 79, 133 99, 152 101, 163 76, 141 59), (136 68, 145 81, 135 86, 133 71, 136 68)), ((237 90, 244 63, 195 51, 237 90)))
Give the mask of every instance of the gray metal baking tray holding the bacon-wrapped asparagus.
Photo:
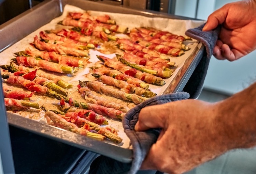
MULTIPOLYGON (((189 19, 163 13, 155 13, 152 11, 127 9, 122 6, 112 6, 87 0, 47 0, 0 26, 0 52, 10 47, 20 39, 24 38, 31 32, 50 22, 52 19, 60 16, 63 12, 63 7, 66 4, 80 7, 83 10, 136 14, 146 17, 189 19)), ((180 92, 183 89, 189 77, 194 72, 194 69, 201 60, 203 56, 203 50, 204 47, 199 44, 194 52, 186 60, 184 66, 179 69, 175 79, 168 86, 164 93, 180 92)), ((39 135, 67 143, 75 147, 102 154, 121 162, 131 162, 132 160, 131 149, 126 149, 112 144, 89 139, 85 136, 30 120, 16 114, 8 113, 7 118, 8 123, 15 127, 37 133, 39 135)))

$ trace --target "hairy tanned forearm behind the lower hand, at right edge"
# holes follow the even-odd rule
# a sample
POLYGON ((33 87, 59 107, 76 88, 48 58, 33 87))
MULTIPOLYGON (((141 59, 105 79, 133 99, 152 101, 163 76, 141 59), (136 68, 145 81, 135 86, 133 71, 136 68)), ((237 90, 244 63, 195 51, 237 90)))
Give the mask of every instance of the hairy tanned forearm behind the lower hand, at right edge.
POLYGON ((227 150, 256 145, 256 83, 216 105, 219 136, 227 150))

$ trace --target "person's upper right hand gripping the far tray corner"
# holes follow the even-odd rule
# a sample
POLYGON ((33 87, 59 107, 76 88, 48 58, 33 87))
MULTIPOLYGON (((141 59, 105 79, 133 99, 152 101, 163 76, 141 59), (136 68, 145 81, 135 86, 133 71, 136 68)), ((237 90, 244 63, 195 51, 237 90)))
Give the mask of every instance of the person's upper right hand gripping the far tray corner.
POLYGON ((237 60, 256 49, 256 0, 224 5, 213 12, 203 31, 222 24, 213 55, 220 60, 237 60))

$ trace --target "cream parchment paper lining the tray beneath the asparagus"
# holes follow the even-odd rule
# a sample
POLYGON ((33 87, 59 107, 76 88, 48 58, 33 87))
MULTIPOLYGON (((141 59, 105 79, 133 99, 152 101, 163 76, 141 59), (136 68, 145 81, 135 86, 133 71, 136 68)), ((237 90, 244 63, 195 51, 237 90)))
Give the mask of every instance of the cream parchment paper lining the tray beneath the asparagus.
MULTIPOLYGON (((52 30, 52 29, 58 28, 59 25, 57 25, 57 22, 63 20, 67 16, 68 12, 84 12, 84 10, 80 9, 79 7, 66 5, 65 8, 64 8, 63 14, 60 17, 57 17, 57 18, 53 19, 48 24, 42 26, 38 30, 32 32, 31 34, 29 34, 28 36, 26 36, 25 38, 23 38, 19 42, 15 43, 14 45, 9 47, 8 49, 1 52, 0 53, 0 58, 1 58, 0 59, 0 65, 9 64, 10 59, 14 58, 13 53, 25 50, 27 47, 29 47, 30 46, 29 43, 33 42, 33 37, 35 35, 39 36, 40 31, 52 30)), ((135 28, 135 27, 154 27, 156 29, 163 30, 163 31, 169 31, 169 32, 172 32, 172 33, 177 34, 177 35, 184 35, 184 33, 187 29, 198 27, 199 25, 201 25, 203 23, 203 21, 194 21, 194 20, 149 18, 149 17, 139 16, 139 15, 107 13, 107 12, 98 12, 98 11, 88 11, 88 12, 93 16, 94 15, 98 16, 98 15, 108 14, 111 17, 111 19, 114 19, 116 21, 117 25, 126 26, 129 29, 132 29, 132 28, 135 28)), ((153 92, 155 92, 157 95, 161 95, 166 90, 168 85, 172 82, 172 80, 177 75, 178 70, 185 63, 186 59, 195 50, 195 48, 198 46, 198 44, 201 44, 201 43, 198 43, 198 41, 196 41, 196 40, 185 42, 185 43, 186 43, 187 46, 189 46, 190 50, 186 51, 185 54, 180 56, 180 57, 169 57, 170 61, 176 63, 175 65, 177 66, 177 68, 176 68, 175 72, 173 73, 173 75, 170 78, 165 79, 166 84, 164 86, 150 85, 150 89, 153 92)), ((98 51, 95 51, 95 50, 90 50, 89 55, 90 55, 90 59, 89 59, 90 62, 97 62, 98 61, 96 55, 103 55, 103 56, 106 56, 106 57, 109 57, 109 58, 115 57, 115 54, 102 54, 102 53, 100 53, 98 51)), ((88 67, 90 67, 90 66, 88 66, 88 67)), ((76 83, 78 84, 78 82, 77 82, 78 79, 86 80, 86 77, 84 75, 87 74, 88 72, 89 72, 89 68, 85 68, 83 70, 79 70, 79 72, 77 72, 74 77, 66 76, 65 79, 66 79, 66 81, 73 82, 74 84, 76 84, 76 83)), ((7 85, 7 84, 4 83, 3 85, 7 85)), ((74 91, 74 89, 72 89, 72 91, 74 91)), ((45 102, 45 96, 35 94, 31 97, 31 100, 39 102, 39 103, 42 104, 43 102, 45 102)), ((50 102, 54 105, 58 104, 58 101, 56 99, 50 99, 50 100, 47 99, 47 102, 50 102)), ((27 118, 30 118, 30 119, 33 119, 33 120, 37 120, 37 121, 40 121, 42 123, 46 123, 46 120, 44 118, 44 112, 40 111, 40 110, 37 110, 36 112, 35 112, 35 110, 32 110, 32 112, 31 111, 30 112, 23 111, 23 112, 17 112, 17 113, 14 113, 14 114, 20 114, 24 117, 27 117, 27 118), (38 116, 35 113, 38 113, 41 116, 38 116), (33 116, 33 115, 36 115, 36 116, 33 116)), ((116 129, 118 129, 119 130, 118 135, 123 138, 123 142, 120 143, 120 144, 111 143, 108 140, 106 140, 106 142, 111 143, 113 145, 118 145, 118 146, 123 147, 123 148, 129 148, 130 140, 128 139, 128 137, 124 133, 122 122, 112 120, 112 119, 108 119, 108 118, 106 118, 106 120, 109 121, 108 126, 112 126, 116 129)))

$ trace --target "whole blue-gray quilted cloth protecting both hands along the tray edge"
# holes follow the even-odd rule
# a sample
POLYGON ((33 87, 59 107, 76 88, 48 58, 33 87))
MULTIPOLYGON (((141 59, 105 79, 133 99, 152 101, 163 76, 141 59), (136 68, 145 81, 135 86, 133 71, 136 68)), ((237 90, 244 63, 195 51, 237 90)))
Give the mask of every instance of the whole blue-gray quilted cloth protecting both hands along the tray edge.
POLYGON ((200 94, 210 58, 212 56, 212 50, 220 31, 219 26, 213 31, 203 32, 203 26, 204 25, 194 29, 189 29, 185 33, 187 36, 202 42, 205 46, 205 55, 187 82, 184 88, 184 91, 186 92, 165 94, 150 98, 126 113, 125 118, 123 119, 123 126, 125 133, 130 138, 133 147, 132 163, 122 163, 109 157, 99 156, 91 164, 89 174, 137 173, 151 145, 156 142, 160 133, 160 129, 150 129, 143 132, 134 131, 134 126, 138 121, 140 110, 151 105, 159 105, 176 100, 187 99, 189 98, 189 94, 190 98, 196 98, 200 94))

